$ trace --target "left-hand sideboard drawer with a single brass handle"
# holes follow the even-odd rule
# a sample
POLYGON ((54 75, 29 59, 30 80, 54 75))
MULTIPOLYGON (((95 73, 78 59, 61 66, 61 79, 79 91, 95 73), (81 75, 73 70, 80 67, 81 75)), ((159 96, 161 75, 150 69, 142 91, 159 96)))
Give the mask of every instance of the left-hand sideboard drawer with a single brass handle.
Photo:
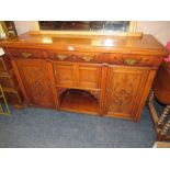
POLYGON ((8 48, 5 54, 10 57, 19 58, 44 58, 44 53, 39 49, 8 48))

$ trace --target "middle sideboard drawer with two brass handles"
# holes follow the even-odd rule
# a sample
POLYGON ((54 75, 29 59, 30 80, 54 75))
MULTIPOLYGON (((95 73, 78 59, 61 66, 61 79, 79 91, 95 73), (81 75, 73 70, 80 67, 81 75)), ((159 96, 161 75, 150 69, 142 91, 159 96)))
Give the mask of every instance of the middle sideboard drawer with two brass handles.
POLYGON ((58 61, 73 63, 101 63, 101 54, 98 53, 68 53, 57 50, 46 50, 46 57, 58 61))

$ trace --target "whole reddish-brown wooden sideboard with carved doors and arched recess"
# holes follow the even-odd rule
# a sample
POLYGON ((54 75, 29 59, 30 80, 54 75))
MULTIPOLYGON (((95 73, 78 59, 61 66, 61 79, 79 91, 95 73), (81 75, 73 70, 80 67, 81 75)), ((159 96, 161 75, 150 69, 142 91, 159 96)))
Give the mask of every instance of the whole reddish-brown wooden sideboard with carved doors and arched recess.
POLYGON ((151 35, 0 42, 27 105, 138 121, 167 49, 151 35))

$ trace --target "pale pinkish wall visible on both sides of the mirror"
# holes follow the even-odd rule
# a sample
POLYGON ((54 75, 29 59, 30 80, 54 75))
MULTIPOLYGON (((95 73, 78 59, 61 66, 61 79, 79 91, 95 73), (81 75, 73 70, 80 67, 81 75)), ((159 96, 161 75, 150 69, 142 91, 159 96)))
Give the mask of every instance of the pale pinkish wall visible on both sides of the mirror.
MULTIPOLYGON (((36 21, 15 21, 18 34, 37 29, 36 21)), ((170 41, 170 21, 139 21, 137 31, 144 34, 152 34, 163 45, 170 41)))

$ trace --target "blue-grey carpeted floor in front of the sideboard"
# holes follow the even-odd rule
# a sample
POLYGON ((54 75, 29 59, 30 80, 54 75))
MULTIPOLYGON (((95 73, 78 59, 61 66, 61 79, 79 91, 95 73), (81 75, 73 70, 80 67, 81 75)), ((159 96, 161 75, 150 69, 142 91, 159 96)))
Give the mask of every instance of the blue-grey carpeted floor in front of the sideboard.
POLYGON ((147 106, 138 123, 47 109, 11 110, 11 117, 0 115, 1 148, 149 148, 156 139, 147 106))

